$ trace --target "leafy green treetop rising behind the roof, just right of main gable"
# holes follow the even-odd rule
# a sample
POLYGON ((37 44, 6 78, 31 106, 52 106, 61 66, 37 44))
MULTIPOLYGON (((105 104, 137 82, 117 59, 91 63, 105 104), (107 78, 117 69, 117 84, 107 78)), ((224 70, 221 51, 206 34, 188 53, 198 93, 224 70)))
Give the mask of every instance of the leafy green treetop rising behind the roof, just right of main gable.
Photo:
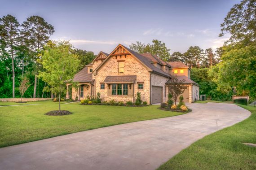
POLYGON ((159 57, 163 61, 168 61, 170 59, 170 49, 168 49, 165 43, 157 39, 153 39, 153 44, 142 44, 141 42, 136 42, 137 44, 130 45, 129 47, 138 53, 151 53, 156 57, 159 57))

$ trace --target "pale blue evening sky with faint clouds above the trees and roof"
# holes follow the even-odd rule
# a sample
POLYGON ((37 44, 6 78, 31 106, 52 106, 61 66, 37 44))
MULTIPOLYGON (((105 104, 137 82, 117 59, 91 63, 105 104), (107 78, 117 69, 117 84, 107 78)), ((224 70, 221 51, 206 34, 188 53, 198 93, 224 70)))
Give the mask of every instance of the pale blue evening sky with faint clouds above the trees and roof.
POLYGON ((39 15, 52 24, 51 39, 70 40, 76 48, 98 53, 152 39, 171 53, 190 46, 216 49, 220 24, 239 0, 0 0, 0 17, 12 14, 22 23, 39 15))

